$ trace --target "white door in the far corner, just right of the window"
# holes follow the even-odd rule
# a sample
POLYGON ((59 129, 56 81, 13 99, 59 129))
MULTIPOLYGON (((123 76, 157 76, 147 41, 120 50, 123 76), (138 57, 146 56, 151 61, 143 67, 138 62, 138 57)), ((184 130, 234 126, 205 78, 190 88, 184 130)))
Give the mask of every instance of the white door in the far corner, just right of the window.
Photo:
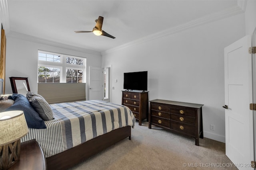
POLYGON ((89 68, 89 100, 103 100, 103 68, 89 68))

